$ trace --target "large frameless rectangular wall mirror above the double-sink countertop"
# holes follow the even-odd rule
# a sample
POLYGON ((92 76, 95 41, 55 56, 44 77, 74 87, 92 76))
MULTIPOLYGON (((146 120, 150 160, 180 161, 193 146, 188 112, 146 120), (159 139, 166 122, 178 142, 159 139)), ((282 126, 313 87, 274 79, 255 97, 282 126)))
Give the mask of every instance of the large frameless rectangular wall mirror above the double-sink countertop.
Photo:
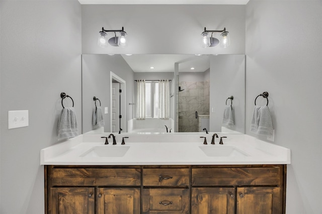
POLYGON ((83 133, 244 134, 245 63, 245 55, 83 54, 83 133))

